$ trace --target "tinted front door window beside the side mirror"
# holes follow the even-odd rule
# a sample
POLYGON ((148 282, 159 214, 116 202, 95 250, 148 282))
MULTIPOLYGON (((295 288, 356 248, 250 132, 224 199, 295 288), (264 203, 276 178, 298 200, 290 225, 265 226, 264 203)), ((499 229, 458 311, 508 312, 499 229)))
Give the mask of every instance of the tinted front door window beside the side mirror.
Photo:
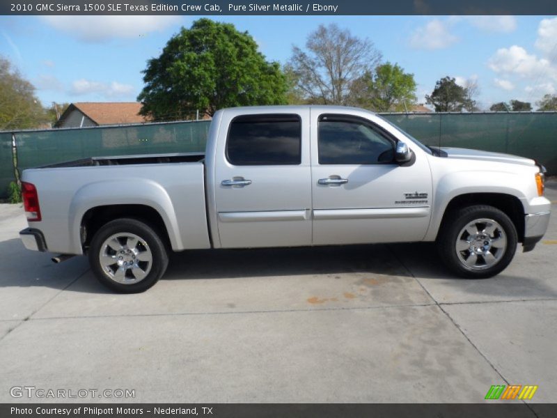
POLYGON ((394 142, 370 123, 323 115, 317 132, 319 164, 385 164, 394 160, 394 142))

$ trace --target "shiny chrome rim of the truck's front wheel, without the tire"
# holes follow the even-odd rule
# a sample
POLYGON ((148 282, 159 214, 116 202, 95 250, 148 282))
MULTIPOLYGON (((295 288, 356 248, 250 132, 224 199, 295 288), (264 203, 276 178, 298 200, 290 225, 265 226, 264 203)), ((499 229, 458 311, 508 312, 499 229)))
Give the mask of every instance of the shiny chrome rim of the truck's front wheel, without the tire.
POLYGON ((457 235, 455 249, 460 262, 470 270, 491 268, 505 254, 507 236, 503 226, 493 219, 469 222, 457 235))

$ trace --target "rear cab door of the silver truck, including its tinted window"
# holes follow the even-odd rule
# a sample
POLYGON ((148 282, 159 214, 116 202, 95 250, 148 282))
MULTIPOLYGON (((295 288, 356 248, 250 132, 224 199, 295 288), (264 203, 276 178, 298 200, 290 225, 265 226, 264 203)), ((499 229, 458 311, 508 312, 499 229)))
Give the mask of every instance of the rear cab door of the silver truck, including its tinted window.
POLYGON ((226 111, 215 164, 221 247, 311 245, 309 109, 226 111))

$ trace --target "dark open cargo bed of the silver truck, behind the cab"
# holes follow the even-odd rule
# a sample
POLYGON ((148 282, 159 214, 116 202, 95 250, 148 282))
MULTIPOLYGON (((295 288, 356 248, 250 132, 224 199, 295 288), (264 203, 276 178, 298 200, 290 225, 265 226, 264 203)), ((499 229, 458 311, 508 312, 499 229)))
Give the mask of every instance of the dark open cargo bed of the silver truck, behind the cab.
POLYGON ((164 164, 170 162, 202 162, 205 153, 179 153, 179 154, 147 154, 147 155, 121 155, 116 157, 89 157, 80 160, 58 162, 49 164, 39 169, 54 169, 63 167, 95 167, 132 164, 164 164))

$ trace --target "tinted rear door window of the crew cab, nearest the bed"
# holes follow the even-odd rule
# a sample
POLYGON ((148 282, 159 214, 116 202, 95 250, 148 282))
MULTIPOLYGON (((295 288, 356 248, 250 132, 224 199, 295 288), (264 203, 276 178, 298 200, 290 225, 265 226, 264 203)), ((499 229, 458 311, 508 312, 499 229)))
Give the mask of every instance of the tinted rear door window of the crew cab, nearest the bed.
POLYGON ((228 130, 226 157, 234 165, 301 164, 301 119, 298 115, 246 115, 228 130))

